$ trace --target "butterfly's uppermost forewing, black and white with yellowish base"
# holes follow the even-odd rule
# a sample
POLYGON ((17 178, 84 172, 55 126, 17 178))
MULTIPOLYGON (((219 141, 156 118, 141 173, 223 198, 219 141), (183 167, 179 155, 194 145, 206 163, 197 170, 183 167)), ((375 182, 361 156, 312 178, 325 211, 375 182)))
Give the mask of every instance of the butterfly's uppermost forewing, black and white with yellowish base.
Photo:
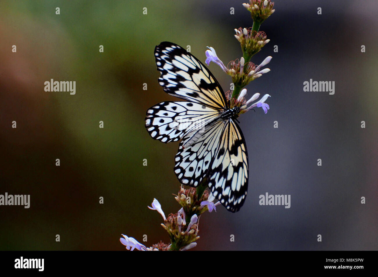
POLYGON ((184 48, 172 42, 155 47, 159 84, 170 95, 214 109, 224 109, 225 93, 212 73, 184 48))

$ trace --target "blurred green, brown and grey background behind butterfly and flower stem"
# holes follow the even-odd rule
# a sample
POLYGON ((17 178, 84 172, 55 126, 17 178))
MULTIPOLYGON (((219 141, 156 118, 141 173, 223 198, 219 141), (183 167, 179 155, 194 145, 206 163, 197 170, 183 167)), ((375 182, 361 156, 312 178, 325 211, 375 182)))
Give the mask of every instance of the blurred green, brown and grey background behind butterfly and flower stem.
MULTIPOLYGON (((153 198, 166 215, 180 208, 172 195, 178 143, 144 128, 148 107, 175 99, 158 85, 153 50, 167 40, 191 45, 203 62, 206 46, 225 64, 240 59, 234 28, 252 26, 242 3, 0 3, 0 194, 31 195, 29 209, 0 206, 0 250, 123 250, 121 233, 146 246, 169 242, 147 209, 153 198), (45 92, 51 78, 76 81, 76 95, 45 92)), ((276 1, 260 28, 271 41, 252 59, 273 56, 271 72, 247 87, 249 96, 269 93, 270 110, 240 118, 247 199, 236 214, 218 206, 201 216, 197 250, 377 250, 377 6, 276 1), (335 81, 335 95, 303 92, 310 78, 335 81), (290 194, 291 208, 260 206, 265 192, 290 194)), ((229 90, 229 76, 209 69, 229 90)))

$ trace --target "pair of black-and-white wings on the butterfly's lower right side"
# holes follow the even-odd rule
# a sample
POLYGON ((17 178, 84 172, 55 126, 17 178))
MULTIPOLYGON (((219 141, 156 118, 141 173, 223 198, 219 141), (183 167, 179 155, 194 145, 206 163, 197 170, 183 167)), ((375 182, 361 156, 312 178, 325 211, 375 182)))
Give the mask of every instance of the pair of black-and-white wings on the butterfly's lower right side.
POLYGON ((215 198, 230 212, 237 212, 248 187, 248 154, 239 126, 232 119, 218 121, 196 143, 183 148, 191 135, 183 138, 175 156, 177 178, 197 187, 206 177, 215 198))

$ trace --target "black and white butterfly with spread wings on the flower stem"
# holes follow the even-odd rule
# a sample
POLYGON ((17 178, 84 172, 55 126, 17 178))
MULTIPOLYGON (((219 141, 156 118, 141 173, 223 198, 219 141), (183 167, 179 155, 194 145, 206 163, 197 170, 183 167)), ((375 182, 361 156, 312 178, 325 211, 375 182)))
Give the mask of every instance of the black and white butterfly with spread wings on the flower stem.
POLYGON ((239 211, 247 195, 248 154, 235 122, 239 107, 229 108, 214 75, 191 53, 172 43, 155 47, 163 90, 185 101, 166 101, 147 110, 146 129, 153 139, 181 139, 174 172, 181 184, 206 183, 230 212, 239 211))

